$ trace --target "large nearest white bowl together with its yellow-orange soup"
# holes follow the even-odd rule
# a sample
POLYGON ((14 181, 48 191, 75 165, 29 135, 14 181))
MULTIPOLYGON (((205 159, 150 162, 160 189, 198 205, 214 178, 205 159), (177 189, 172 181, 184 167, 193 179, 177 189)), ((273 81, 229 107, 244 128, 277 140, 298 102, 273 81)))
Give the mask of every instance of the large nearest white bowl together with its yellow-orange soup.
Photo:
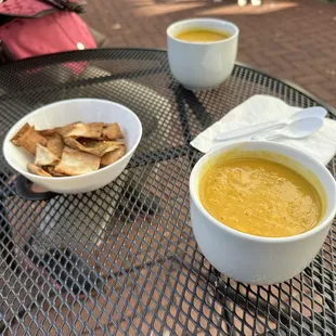
POLYGON ((300 273, 319 253, 336 214, 336 185, 328 170, 300 151, 266 141, 225 144, 203 156, 191 173, 190 195, 193 232, 202 253, 220 272, 247 284, 280 283, 300 273), (266 165, 257 169, 258 163, 262 161, 266 165), (229 167, 227 176, 221 172, 222 185, 218 183, 220 178, 216 172, 221 166, 229 167), (245 181, 242 173, 245 173, 245 181), (217 179, 217 186, 209 184, 215 189, 207 194, 204 189, 211 175, 217 179), (251 175, 255 175, 256 183, 248 180, 251 175), (271 180, 267 181, 267 177, 271 180), (233 184, 230 179, 235 179, 233 184), (237 181, 246 185, 233 190, 232 185, 237 185, 237 181), (220 197, 216 192, 219 189, 233 194, 220 197), (249 194, 254 191, 255 198, 249 194), (236 216, 232 209, 234 202, 230 202, 230 196, 236 201, 235 192, 242 193, 243 202, 237 206, 236 216), (269 196, 262 201, 260 195, 269 196), (274 207, 269 198, 276 202, 274 207), (248 199, 251 204, 247 204, 248 199), (277 206, 279 202, 283 202, 283 212, 276 221, 274 211, 282 208, 277 206), (221 207, 219 215, 211 209, 211 204, 216 203, 221 207), (307 205, 314 211, 303 209, 307 205), (307 220, 298 218, 296 223, 289 215, 292 209, 300 206, 307 220), (254 216, 258 220, 251 220, 254 216))

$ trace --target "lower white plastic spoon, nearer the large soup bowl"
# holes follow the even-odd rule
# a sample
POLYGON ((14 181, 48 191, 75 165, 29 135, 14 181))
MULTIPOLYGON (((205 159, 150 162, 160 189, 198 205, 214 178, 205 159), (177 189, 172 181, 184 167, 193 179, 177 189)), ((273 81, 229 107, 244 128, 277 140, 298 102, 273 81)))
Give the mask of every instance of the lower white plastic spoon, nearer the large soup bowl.
POLYGON ((323 118, 310 117, 290 122, 281 131, 270 132, 264 137, 256 135, 251 140, 276 140, 280 138, 301 139, 313 134, 323 126, 323 118))

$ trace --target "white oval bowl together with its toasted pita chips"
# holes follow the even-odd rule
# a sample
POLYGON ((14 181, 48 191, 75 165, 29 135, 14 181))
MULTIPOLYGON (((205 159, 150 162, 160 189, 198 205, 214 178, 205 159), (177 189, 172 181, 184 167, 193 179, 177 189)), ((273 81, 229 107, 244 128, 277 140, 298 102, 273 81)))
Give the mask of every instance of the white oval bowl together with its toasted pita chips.
POLYGON ((78 194, 98 190, 126 168, 142 135, 129 108, 105 100, 74 99, 46 105, 8 132, 9 165, 44 190, 78 194))

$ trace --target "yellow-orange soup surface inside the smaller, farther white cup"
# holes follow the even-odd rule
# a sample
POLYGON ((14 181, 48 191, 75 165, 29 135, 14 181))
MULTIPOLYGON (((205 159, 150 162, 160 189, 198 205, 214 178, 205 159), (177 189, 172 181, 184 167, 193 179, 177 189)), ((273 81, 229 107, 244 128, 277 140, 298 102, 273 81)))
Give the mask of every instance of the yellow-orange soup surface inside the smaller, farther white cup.
POLYGON ((183 30, 176 35, 177 39, 186 42, 217 42, 229 37, 227 31, 204 28, 183 30))

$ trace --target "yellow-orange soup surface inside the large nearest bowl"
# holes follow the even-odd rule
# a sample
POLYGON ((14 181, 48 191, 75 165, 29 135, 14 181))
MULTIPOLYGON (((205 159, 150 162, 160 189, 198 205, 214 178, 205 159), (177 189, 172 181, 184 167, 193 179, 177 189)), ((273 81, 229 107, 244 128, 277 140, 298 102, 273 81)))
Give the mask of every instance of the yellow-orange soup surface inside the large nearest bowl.
POLYGON ((241 232, 284 237, 310 230, 322 217, 312 184, 288 167, 262 158, 221 161, 199 181, 204 208, 241 232))

